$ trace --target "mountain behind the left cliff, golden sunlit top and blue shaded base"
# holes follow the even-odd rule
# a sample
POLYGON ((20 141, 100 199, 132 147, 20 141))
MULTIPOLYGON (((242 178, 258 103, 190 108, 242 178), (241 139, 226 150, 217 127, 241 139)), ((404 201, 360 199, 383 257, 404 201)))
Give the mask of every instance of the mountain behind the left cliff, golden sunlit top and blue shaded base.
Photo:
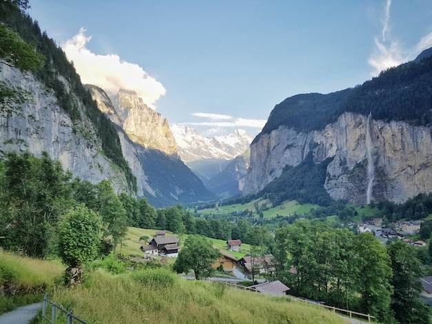
POLYGON ((146 196, 156 207, 213 198, 202 181, 179 159, 166 119, 147 108, 132 92, 119 92, 116 104, 101 88, 94 85, 88 88, 99 110, 117 125, 121 151, 137 179, 137 196, 146 196), (125 125, 127 130, 123 128, 125 125))

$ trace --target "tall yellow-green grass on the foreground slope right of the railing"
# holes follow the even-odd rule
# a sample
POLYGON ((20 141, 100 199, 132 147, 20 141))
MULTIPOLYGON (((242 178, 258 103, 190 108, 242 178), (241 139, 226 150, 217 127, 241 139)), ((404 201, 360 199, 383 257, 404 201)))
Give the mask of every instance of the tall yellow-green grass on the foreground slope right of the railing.
POLYGON ((180 279, 167 269, 88 274, 50 299, 89 323, 348 323, 327 310, 232 287, 180 279))

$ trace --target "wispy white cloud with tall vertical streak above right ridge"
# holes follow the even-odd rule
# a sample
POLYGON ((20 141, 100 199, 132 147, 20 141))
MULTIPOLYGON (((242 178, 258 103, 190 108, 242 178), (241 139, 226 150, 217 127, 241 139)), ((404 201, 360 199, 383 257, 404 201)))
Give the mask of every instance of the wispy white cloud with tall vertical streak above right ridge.
POLYGON ((390 35, 390 7, 391 0, 386 1, 386 8, 384 10, 384 19, 382 23, 381 39, 375 37, 375 51, 368 60, 375 70, 372 76, 380 74, 382 70, 386 70, 393 66, 400 65, 406 61, 411 61, 417 57, 422 50, 432 46, 432 32, 420 39, 420 42, 413 48, 402 48, 397 40, 391 39, 390 35))

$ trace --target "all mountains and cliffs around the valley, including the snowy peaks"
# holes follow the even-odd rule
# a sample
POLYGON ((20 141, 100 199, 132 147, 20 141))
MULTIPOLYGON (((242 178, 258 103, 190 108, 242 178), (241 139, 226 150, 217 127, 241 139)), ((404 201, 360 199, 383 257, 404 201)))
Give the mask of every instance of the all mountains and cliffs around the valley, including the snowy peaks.
POLYGON ((37 24, 20 33, 46 63, 35 73, 1 65, 0 81, 32 97, 1 115, 2 151, 48 152, 74 176, 110 179, 116 192, 156 207, 239 194, 400 203, 432 191, 431 50, 355 88, 285 99, 255 139, 242 130, 206 138, 184 125, 171 130, 135 92, 109 97, 82 85, 37 24))

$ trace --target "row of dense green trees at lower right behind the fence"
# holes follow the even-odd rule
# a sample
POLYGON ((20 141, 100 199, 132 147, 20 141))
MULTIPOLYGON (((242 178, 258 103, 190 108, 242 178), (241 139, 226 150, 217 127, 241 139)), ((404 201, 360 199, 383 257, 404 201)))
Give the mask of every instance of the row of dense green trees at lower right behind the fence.
POLYGON ((290 294, 377 316, 384 323, 429 323, 415 247, 385 246, 369 232, 297 220, 275 233, 276 272, 290 294))

